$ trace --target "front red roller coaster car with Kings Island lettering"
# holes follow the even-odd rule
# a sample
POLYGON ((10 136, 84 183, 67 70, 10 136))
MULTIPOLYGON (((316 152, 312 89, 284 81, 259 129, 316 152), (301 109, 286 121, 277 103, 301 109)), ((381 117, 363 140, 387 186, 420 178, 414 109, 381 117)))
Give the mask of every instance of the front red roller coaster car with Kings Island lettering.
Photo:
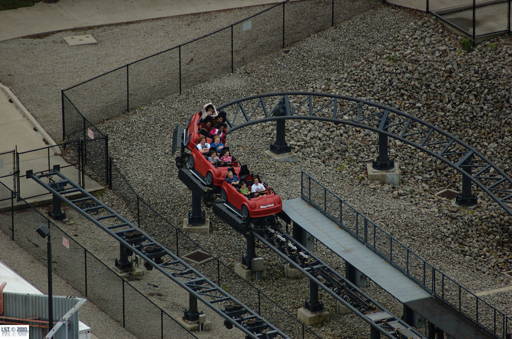
MULTIPOLYGON (((247 186, 250 187, 250 185, 252 185, 252 180, 247 180, 247 186)), ((221 199, 224 203, 229 202, 233 207, 237 208, 244 218, 261 218, 279 213, 283 208, 281 198, 275 194, 272 188, 266 184, 264 186, 266 189, 258 192, 260 193, 259 196, 254 197, 254 194, 251 193, 247 197, 237 187, 224 180, 221 189, 221 199)))

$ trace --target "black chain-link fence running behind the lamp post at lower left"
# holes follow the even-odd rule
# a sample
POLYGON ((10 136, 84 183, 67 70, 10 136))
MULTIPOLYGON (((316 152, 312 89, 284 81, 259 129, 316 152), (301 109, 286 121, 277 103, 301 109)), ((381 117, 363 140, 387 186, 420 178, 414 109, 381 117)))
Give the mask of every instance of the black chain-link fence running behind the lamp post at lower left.
POLYGON ((46 265, 47 239, 36 229, 47 225, 51 229, 53 272, 112 319, 140 338, 197 338, 26 201, 28 208, 14 213, 15 200, 13 190, 0 183, 0 229, 46 265), (69 246, 63 244, 64 239, 69 246))

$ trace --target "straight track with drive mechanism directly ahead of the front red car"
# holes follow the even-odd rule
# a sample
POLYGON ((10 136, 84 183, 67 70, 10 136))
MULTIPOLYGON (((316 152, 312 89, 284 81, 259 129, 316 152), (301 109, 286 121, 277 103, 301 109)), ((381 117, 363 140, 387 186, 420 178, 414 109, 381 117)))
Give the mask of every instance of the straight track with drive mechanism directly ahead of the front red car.
POLYGON ((249 232, 263 244, 301 271, 335 300, 345 305, 370 326, 389 338, 425 338, 414 328, 362 292, 347 278, 316 257, 277 226, 251 230, 224 203, 214 203, 214 213, 239 232, 249 232))

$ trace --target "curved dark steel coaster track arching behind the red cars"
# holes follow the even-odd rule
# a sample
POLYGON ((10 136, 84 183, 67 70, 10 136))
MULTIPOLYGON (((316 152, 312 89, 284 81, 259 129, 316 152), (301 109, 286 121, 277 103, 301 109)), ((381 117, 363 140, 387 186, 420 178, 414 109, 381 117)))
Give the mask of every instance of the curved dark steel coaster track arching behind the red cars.
POLYGON ((255 123, 288 119, 330 121, 382 133, 455 168, 512 216, 507 205, 512 203, 512 179, 508 175, 452 134, 399 110, 367 100, 314 92, 254 95, 224 103, 217 110, 226 111, 230 117, 228 133, 255 123), (285 104, 284 113, 278 113, 280 102, 285 104), (391 122, 386 126, 387 118, 391 122))

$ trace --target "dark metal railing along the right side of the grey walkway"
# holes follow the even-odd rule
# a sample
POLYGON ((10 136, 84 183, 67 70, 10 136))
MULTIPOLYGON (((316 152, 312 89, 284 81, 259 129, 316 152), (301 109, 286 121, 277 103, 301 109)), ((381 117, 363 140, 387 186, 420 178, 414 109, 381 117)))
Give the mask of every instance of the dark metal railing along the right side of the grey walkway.
POLYGON ((512 331, 511 317, 426 262, 305 172, 301 173, 301 198, 488 334, 506 339, 512 331))

